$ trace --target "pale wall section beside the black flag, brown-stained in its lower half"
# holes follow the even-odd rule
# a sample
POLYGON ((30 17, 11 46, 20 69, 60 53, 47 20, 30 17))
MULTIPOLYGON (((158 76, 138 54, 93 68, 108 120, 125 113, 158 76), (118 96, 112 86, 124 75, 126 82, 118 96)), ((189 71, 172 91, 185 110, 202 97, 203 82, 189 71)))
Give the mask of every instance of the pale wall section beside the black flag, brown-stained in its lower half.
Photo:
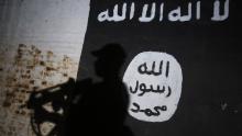
POLYGON ((76 78, 88 13, 88 0, 0 0, 1 136, 34 135, 30 93, 76 78))

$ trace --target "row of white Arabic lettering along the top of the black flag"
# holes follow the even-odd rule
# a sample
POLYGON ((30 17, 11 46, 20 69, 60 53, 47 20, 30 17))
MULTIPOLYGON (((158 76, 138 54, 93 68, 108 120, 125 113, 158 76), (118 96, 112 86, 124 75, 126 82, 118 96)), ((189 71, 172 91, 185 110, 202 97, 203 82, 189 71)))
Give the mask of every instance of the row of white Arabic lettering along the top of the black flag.
MULTIPOLYGON (((194 16, 196 16, 194 20, 200 20, 201 18, 201 1, 196 1, 194 7, 193 2, 188 2, 187 8, 182 8, 178 5, 176 9, 172 9, 166 12, 164 12, 165 4, 163 2, 160 4, 160 7, 155 2, 151 4, 145 3, 143 4, 141 13, 139 12, 139 10, 135 10, 135 5, 136 4, 134 2, 129 5, 127 2, 123 2, 122 5, 114 4, 112 14, 110 14, 109 9, 107 9, 100 12, 97 19, 99 22, 121 22, 125 20, 133 20, 134 16, 139 16, 139 22, 147 23, 154 21, 156 15, 158 15, 158 21, 162 22, 164 19, 164 13, 167 13, 167 19, 170 22, 187 22, 193 20, 193 11, 195 12, 194 16), (119 10, 120 7, 121 10, 119 10), (182 14, 182 9, 186 10, 187 14, 182 14)), ((226 0, 224 2, 223 14, 221 14, 220 9, 220 1, 216 0, 213 2, 213 15, 211 18, 211 21, 224 21, 229 18, 229 0, 226 0)))

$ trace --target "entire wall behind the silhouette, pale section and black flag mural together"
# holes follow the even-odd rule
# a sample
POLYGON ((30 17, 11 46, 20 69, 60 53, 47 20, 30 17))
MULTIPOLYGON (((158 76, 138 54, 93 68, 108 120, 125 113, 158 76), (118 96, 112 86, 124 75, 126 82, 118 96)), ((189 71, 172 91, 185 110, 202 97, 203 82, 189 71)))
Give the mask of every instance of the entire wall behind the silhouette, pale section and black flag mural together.
POLYGON ((240 135, 241 18, 235 0, 0 0, 0 135, 34 135, 33 90, 100 81, 91 53, 110 43, 134 136, 240 135))

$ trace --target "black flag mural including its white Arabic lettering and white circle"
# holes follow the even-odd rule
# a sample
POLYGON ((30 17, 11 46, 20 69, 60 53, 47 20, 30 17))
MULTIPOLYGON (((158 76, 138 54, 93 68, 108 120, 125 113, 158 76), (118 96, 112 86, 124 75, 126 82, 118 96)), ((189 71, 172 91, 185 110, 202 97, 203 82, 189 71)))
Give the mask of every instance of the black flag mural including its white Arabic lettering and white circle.
POLYGON ((123 106, 129 135, 242 135, 241 18, 235 0, 91 0, 77 80, 123 82, 127 105, 89 99, 123 106))

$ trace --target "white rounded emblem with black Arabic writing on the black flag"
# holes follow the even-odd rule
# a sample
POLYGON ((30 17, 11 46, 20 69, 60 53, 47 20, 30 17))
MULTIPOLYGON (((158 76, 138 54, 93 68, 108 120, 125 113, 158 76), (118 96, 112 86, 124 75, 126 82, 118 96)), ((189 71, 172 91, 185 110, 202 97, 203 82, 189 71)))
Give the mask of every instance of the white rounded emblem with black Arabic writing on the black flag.
POLYGON ((166 53, 143 52, 123 76, 130 95, 129 114, 145 122, 165 122, 175 113, 182 93, 178 61, 166 53))

